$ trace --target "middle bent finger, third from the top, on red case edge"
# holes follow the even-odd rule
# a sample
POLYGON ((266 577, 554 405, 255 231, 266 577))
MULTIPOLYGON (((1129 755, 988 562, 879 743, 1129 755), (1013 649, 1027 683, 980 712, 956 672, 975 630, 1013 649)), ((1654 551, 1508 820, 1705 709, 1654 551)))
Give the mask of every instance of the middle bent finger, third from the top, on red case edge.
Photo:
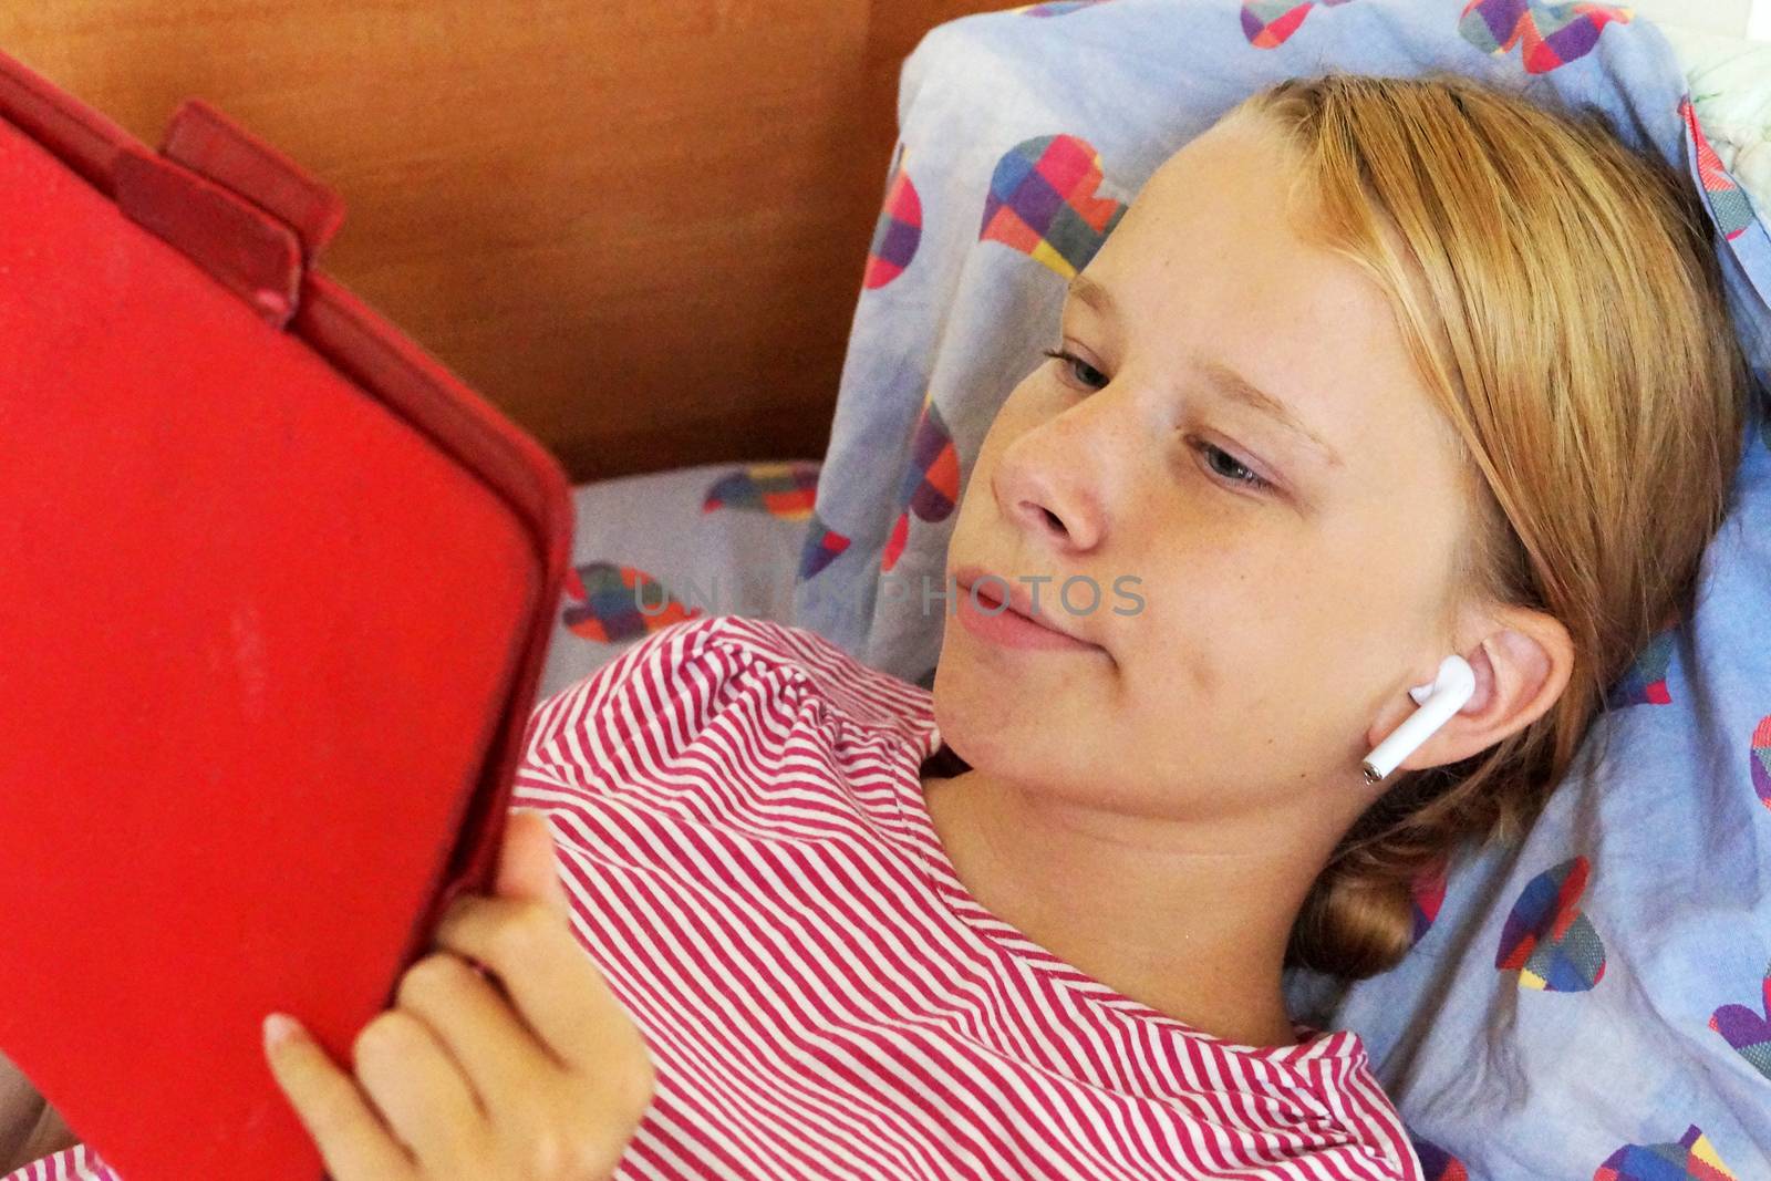
POLYGON ((406 970, 395 1004, 430 1027, 460 1064, 492 1124, 507 1124, 561 1066, 498 984, 452 951, 406 970))

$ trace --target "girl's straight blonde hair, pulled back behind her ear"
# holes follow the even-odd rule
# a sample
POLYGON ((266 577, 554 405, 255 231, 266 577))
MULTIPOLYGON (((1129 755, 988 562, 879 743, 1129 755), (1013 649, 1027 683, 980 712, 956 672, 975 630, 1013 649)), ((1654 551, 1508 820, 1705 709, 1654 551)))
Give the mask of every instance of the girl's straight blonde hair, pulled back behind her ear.
POLYGON ((1404 774, 1341 839, 1286 963, 1357 979, 1408 951, 1415 880, 1525 832, 1606 689, 1690 611, 1750 374, 1695 188, 1599 112, 1433 73, 1286 80, 1231 115, 1286 133, 1316 198, 1300 234, 1388 294, 1470 460, 1466 586, 1574 650, 1543 717, 1404 774))

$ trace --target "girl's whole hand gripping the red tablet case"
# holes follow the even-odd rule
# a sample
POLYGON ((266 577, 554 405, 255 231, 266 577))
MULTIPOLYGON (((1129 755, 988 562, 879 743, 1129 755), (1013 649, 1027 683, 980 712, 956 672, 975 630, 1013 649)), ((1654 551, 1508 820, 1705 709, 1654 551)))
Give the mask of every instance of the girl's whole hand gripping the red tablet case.
POLYGON ((540 813, 508 816, 496 891, 446 912, 445 951, 358 1034, 354 1078, 301 1030, 273 1045, 266 1022, 271 1073, 333 1181, 602 1181, 634 1137, 652 1059, 572 935, 540 813))

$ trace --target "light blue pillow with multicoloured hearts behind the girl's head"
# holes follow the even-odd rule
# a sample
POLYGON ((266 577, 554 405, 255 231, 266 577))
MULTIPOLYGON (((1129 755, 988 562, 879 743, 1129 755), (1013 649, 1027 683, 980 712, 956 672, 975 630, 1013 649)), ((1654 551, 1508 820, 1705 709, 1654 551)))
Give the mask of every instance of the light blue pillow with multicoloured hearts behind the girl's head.
MULTIPOLYGON (((1066 282, 1181 143, 1323 69, 1456 69, 1603 110, 1700 184, 1741 347, 1771 381, 1771 235, 1667 37, 1537 0, 1070 0, 932 30, 903 66, 793 621, 932 683, 955 503, 1066 282), (896 590, 893 590, 893 584, 896 590)), ((1707 103, 1707 96, 1705 96, 1707 103)), ((1750 425, 1700 609, 1658 636, 1511 848, 1417 891, 1404 961, 1295 1009, 1360 1032, 1431 1177, 1771 1177, 1771 430, 1750 425), (1597 735, 1594 735, 1597 737, 1597 735)))

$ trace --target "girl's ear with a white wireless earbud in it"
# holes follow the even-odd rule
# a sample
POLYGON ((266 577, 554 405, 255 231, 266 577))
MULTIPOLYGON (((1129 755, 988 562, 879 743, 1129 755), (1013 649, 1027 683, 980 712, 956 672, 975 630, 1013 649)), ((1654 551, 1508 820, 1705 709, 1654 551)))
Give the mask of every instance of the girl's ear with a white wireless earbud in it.
MULTIPOLYGON (((1481 754, 1550 712, 1574 671, 1574 641, 1551 614, 1530 607, 1493 606, 1466 618, 1463 634, 1477 634, 1473 648, 1461 652, 1475 673, 1475 692, 1465 706, 1440 726, 1431 738, 1404 758, 1397 770, 1443 767, 1481 754)), ((1438 675, 1438 655, 1411 669, 1397 699, 1385 706, 1367 735, 1378 745, 1419 706, 1408 689, 1426 685, 1438 675)))

